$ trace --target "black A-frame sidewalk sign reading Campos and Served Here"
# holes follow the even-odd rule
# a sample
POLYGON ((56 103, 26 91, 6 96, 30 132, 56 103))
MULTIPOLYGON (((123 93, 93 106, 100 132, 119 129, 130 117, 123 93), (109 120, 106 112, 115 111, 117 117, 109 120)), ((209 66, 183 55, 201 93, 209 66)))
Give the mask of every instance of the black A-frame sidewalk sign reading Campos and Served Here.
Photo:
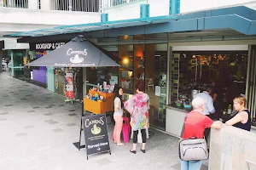
POLYGON ((106 115, 83 116, 85 148, 88 156, 110 152, 106 115))

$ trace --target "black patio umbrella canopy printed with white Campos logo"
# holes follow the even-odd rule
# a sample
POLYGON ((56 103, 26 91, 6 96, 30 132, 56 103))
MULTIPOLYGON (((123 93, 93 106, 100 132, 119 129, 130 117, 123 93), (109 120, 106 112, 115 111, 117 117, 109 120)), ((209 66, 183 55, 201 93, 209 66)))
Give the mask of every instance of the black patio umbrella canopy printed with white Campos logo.
POLYGON ((84 36, 78 36, 28 65, 54 67, 119 66, 111 58, 113 56, 107 54, 106 50, 102 50, 84 36))

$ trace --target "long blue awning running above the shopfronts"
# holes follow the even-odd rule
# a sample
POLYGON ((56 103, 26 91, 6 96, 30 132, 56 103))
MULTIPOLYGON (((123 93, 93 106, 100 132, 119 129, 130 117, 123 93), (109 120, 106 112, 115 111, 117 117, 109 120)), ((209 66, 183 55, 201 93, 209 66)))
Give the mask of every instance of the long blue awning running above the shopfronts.
POLYGON ((44 30, 20 32, 7 37, 23 37, 18 42, 31 42, 39 37, 53 41, 60 35, 61 38, 71 39, 79 34, 87 38, 98 38, 218 30, 236 31, 243 36, 256 35, 256 11, 244 6, 218 8, 173 16, 57 26, 44 30))

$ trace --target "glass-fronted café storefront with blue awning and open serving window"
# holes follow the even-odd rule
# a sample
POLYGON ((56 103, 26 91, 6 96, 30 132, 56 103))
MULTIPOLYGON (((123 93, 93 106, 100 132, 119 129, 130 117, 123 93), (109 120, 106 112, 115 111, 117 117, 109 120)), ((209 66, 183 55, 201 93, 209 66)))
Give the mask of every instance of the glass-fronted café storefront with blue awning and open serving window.
MULTIPOLYGON (((97 45, 115 54, 120 65, 119 69, 84 69, 87 75, 84 86, 88 90, 98 83, 118 82, 125 94, 134 94, 136 83, 142 82, 150 98, 151 127, 179 136, 184 113, 191 109, 191 91, 213 85, 215 81, 226 86, 218 89, 222 90, 219 92, 220 110, 225 111, 230 105, 232 97, 227 90, 234 85, 238 88, 237 94, 246 95, 255 122, 256 60, 253 44, 256 31, 253 28, 256 15, 251 12, 256 13, 245 7, 212 9, 177 15, 175 20, 172 16, 164 16, 161 19, 149 17, 148 22, 144 19, 129 21, 129 26, 122 25, 124 21, 121 20, 109 22, 110 26, 117 25, 117 28, 103 31, 101 29, 106 23, 102 27, 98 23, 100 31, 86 31, 88 25, 84 25, 84 37, 93 38, 97 45), (220 20, 223 25, 218 24, 220 20), (187 106, 187 110, 183 106, 187 106)), ((61 31, 65 32, 65 28, 61 27, 61 31)), ((46 32, 45 37, 40 37, 42 32, 38 31, 22 41, 55 38, 61 42, 79 34, 68 32, 68 27, 66 33, 48 37, 46 32)))

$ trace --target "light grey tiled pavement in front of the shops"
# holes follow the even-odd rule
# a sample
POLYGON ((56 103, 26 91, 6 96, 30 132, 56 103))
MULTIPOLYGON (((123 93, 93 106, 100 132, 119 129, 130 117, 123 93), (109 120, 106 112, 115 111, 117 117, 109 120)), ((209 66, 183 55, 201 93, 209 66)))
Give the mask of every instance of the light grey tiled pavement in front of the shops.
MULTIPOLYGON (((0 73, 0 170, 179 169, 178 139, 151 130, 147 153, 110 140, 112 155, 89 156, 79 140, 80 106, 44 88, 0 73)), ((108 125, 109 133, 113 125, 108 125)), ((206 166, 202 169, 207 169, 206 166)))

